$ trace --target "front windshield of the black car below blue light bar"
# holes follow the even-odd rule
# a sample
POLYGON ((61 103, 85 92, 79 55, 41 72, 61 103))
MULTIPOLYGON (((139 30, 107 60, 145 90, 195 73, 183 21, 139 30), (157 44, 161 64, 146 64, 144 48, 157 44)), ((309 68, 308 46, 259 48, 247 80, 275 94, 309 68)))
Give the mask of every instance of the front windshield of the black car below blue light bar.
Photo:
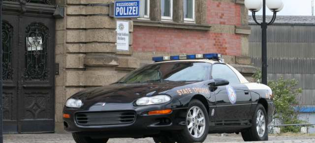
POLYGON ((203 81, 210 78, 211 63, 208 62, 164 62, 140 67, 117 83, 148 81, 203 81))

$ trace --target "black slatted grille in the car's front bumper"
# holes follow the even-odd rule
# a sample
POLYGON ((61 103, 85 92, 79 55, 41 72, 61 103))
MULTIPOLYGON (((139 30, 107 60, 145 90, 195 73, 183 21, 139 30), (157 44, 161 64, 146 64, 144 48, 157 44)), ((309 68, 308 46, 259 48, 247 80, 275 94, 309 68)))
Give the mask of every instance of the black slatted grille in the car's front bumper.
POLYGON ((134 112, 79 113, 75 115, 79 125, 113 125, 132 123, 134 112))

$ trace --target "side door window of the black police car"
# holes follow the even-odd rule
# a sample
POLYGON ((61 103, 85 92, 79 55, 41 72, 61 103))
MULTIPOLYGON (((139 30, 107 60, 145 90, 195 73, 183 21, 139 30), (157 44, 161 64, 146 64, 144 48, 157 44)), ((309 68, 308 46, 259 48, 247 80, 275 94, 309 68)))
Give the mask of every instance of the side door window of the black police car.
POLYGON ((237 75, 225 64, 214 64, 211 76, 213 79, 226 79, 230 84, 240 83, 237 75))

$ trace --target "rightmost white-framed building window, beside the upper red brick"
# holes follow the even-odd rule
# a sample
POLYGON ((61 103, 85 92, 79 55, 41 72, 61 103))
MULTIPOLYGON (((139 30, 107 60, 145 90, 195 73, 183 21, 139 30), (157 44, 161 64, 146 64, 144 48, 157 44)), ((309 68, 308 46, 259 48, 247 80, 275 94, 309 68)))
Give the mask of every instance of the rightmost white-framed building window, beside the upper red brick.
POLYGON ((195 0, 184 0, 184 20, 194 21, 195 19, 195 0))

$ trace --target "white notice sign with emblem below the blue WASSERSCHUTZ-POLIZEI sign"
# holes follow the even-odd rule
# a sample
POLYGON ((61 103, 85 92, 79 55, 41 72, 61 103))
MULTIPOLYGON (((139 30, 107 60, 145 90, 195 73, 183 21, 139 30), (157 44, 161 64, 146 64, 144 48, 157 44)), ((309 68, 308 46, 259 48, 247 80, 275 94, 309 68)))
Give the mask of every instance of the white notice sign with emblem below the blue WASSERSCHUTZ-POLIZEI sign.
POLYGON ((117 21, 117 50, 129 51, 129 21, 117 21))

